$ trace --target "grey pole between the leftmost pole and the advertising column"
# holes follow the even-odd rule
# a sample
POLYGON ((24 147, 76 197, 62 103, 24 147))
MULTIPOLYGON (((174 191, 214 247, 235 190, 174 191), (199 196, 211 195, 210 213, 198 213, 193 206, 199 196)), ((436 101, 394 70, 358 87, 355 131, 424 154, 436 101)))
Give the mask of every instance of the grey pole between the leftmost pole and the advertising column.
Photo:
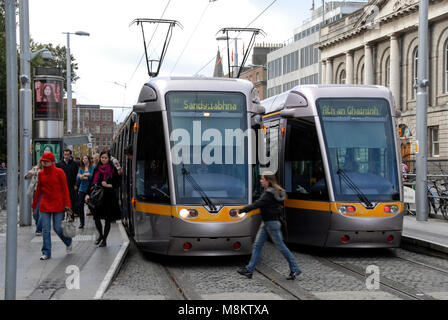
POLYGON ((20 225, 31 225, 31 199, 27 196, 29 180, 25 174, 31 169, 31 52, 28 0, 20 0, 20 225))

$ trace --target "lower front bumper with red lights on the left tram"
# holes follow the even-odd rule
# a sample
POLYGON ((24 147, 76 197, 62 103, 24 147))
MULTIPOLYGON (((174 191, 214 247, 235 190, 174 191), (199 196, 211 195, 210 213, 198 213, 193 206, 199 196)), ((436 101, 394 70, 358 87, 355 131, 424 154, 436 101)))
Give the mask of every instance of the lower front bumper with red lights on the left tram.
POLYGON ((171 238, 168 255, 172 256, 233 256, 252 252, 252 237, 232 238, 171 238))

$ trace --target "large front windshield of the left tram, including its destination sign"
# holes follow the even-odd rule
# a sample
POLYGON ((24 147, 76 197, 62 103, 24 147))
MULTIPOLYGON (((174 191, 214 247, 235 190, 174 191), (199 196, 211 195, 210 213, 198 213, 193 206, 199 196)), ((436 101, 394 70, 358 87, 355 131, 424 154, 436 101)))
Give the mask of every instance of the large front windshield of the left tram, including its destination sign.
POLYGON ((169 92, 166 105, 177 203, 246 203, 245 95, 169 92))

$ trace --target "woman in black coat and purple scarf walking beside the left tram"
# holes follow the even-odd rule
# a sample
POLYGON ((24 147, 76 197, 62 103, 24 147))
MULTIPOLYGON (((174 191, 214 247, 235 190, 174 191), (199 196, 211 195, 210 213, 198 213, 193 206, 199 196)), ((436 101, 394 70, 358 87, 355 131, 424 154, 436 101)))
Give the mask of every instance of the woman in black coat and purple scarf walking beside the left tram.
POLYGON ((108 151, 101 152, 100 162, 93 170, 93 178, 90 181, 85 197, 86 203, 89 201, 90 192, 94 185, 103 187, 104 192, 101 205, 93 210, 90 208, 93 213, 95 226, 99 233, 95 244, 99 244, 100 247, 105 247, 107 245, 106 241, 107 236, 109 235, 111 222, 121 218, 120 206, 118 205, 118 198, 115 192, 115 189, 120 185, 120 178, 118 176, 117 168, 115 168, 110 161, 110 153, 108 151), (101 220, 104 220, 104 231, 101 220))

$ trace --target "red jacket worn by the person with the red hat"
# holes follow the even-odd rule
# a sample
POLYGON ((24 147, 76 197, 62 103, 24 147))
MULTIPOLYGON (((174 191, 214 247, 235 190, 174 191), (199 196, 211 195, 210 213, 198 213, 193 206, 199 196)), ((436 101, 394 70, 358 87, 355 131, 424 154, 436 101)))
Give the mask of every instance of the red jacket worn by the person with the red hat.
POLYGON ((40 212, 63 212, 65 207, 71 208, 67 179, 62 169, 43 167, 37 178, 37 189, 34 193, 32 208, 36 209, 39 197, 40 212))

